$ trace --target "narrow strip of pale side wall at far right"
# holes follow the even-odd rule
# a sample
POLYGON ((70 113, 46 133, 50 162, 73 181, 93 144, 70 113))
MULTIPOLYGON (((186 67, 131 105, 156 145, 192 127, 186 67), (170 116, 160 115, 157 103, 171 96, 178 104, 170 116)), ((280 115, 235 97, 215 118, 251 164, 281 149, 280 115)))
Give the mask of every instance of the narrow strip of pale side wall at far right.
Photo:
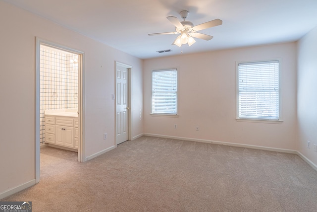
POLYGON ((298 151, 317 164, 317 27, 298 42, 297 78, 298 151))

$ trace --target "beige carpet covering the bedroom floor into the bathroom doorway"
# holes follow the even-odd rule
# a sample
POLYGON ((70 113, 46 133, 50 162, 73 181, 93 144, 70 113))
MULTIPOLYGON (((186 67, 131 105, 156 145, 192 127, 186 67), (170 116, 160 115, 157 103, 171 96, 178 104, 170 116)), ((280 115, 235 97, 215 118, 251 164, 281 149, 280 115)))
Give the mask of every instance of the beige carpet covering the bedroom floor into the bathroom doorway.
POLYGON ((41 149, 41 182, 1 201, 33 212, 316 212, 317 172, 295 154, 141 137, 86 163, 41 149))

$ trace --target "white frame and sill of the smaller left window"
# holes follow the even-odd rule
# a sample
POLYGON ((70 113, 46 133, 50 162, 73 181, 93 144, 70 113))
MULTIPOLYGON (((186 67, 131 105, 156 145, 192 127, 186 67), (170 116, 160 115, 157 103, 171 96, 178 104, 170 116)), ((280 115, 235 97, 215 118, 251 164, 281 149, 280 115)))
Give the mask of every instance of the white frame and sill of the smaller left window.
POLYGON ((179 70, 178 68, 169 68, 169 69, 155 69, 151 71, 151 113, 152 116, 159 116, 159 117, 178 117, 179 116, 179 70), (158 71, 176 71, 176 113, 154 113, 153 112, 153 72, 158 71))

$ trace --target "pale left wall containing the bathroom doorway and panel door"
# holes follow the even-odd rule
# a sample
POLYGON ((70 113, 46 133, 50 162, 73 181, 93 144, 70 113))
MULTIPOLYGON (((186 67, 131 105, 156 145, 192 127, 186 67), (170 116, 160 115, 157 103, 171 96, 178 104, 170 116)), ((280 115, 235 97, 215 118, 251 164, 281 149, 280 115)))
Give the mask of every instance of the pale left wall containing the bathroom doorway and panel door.
POLYGON ((142 134, 142 60, 2 1, 0 26, 0 194, 35 179, 36 37, 85 52, 86 156, 115 145, 115 61, 133 67, 132 136, 142 134))

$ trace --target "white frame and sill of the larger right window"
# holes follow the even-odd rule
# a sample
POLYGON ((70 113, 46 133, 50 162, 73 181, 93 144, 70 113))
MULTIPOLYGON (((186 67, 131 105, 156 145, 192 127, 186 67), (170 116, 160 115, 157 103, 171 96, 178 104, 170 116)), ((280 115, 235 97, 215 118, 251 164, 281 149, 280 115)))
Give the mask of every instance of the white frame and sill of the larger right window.
POLYGON ((282 73, 282 60, 280 58, 268 59, 268 60, 256 60, 256 61, 239 61, 236 62, 236 121, 242 122, 261 122, 261 123, 273 123, 273 124, 281 124, 282 120, 282 89, 281 89, 281 74, 282 73), (265 63, 278 61, 278 119, 256 119, 256 118, 240 118, 239 117, 239 64, 256 64, 256 63, 265 63))

